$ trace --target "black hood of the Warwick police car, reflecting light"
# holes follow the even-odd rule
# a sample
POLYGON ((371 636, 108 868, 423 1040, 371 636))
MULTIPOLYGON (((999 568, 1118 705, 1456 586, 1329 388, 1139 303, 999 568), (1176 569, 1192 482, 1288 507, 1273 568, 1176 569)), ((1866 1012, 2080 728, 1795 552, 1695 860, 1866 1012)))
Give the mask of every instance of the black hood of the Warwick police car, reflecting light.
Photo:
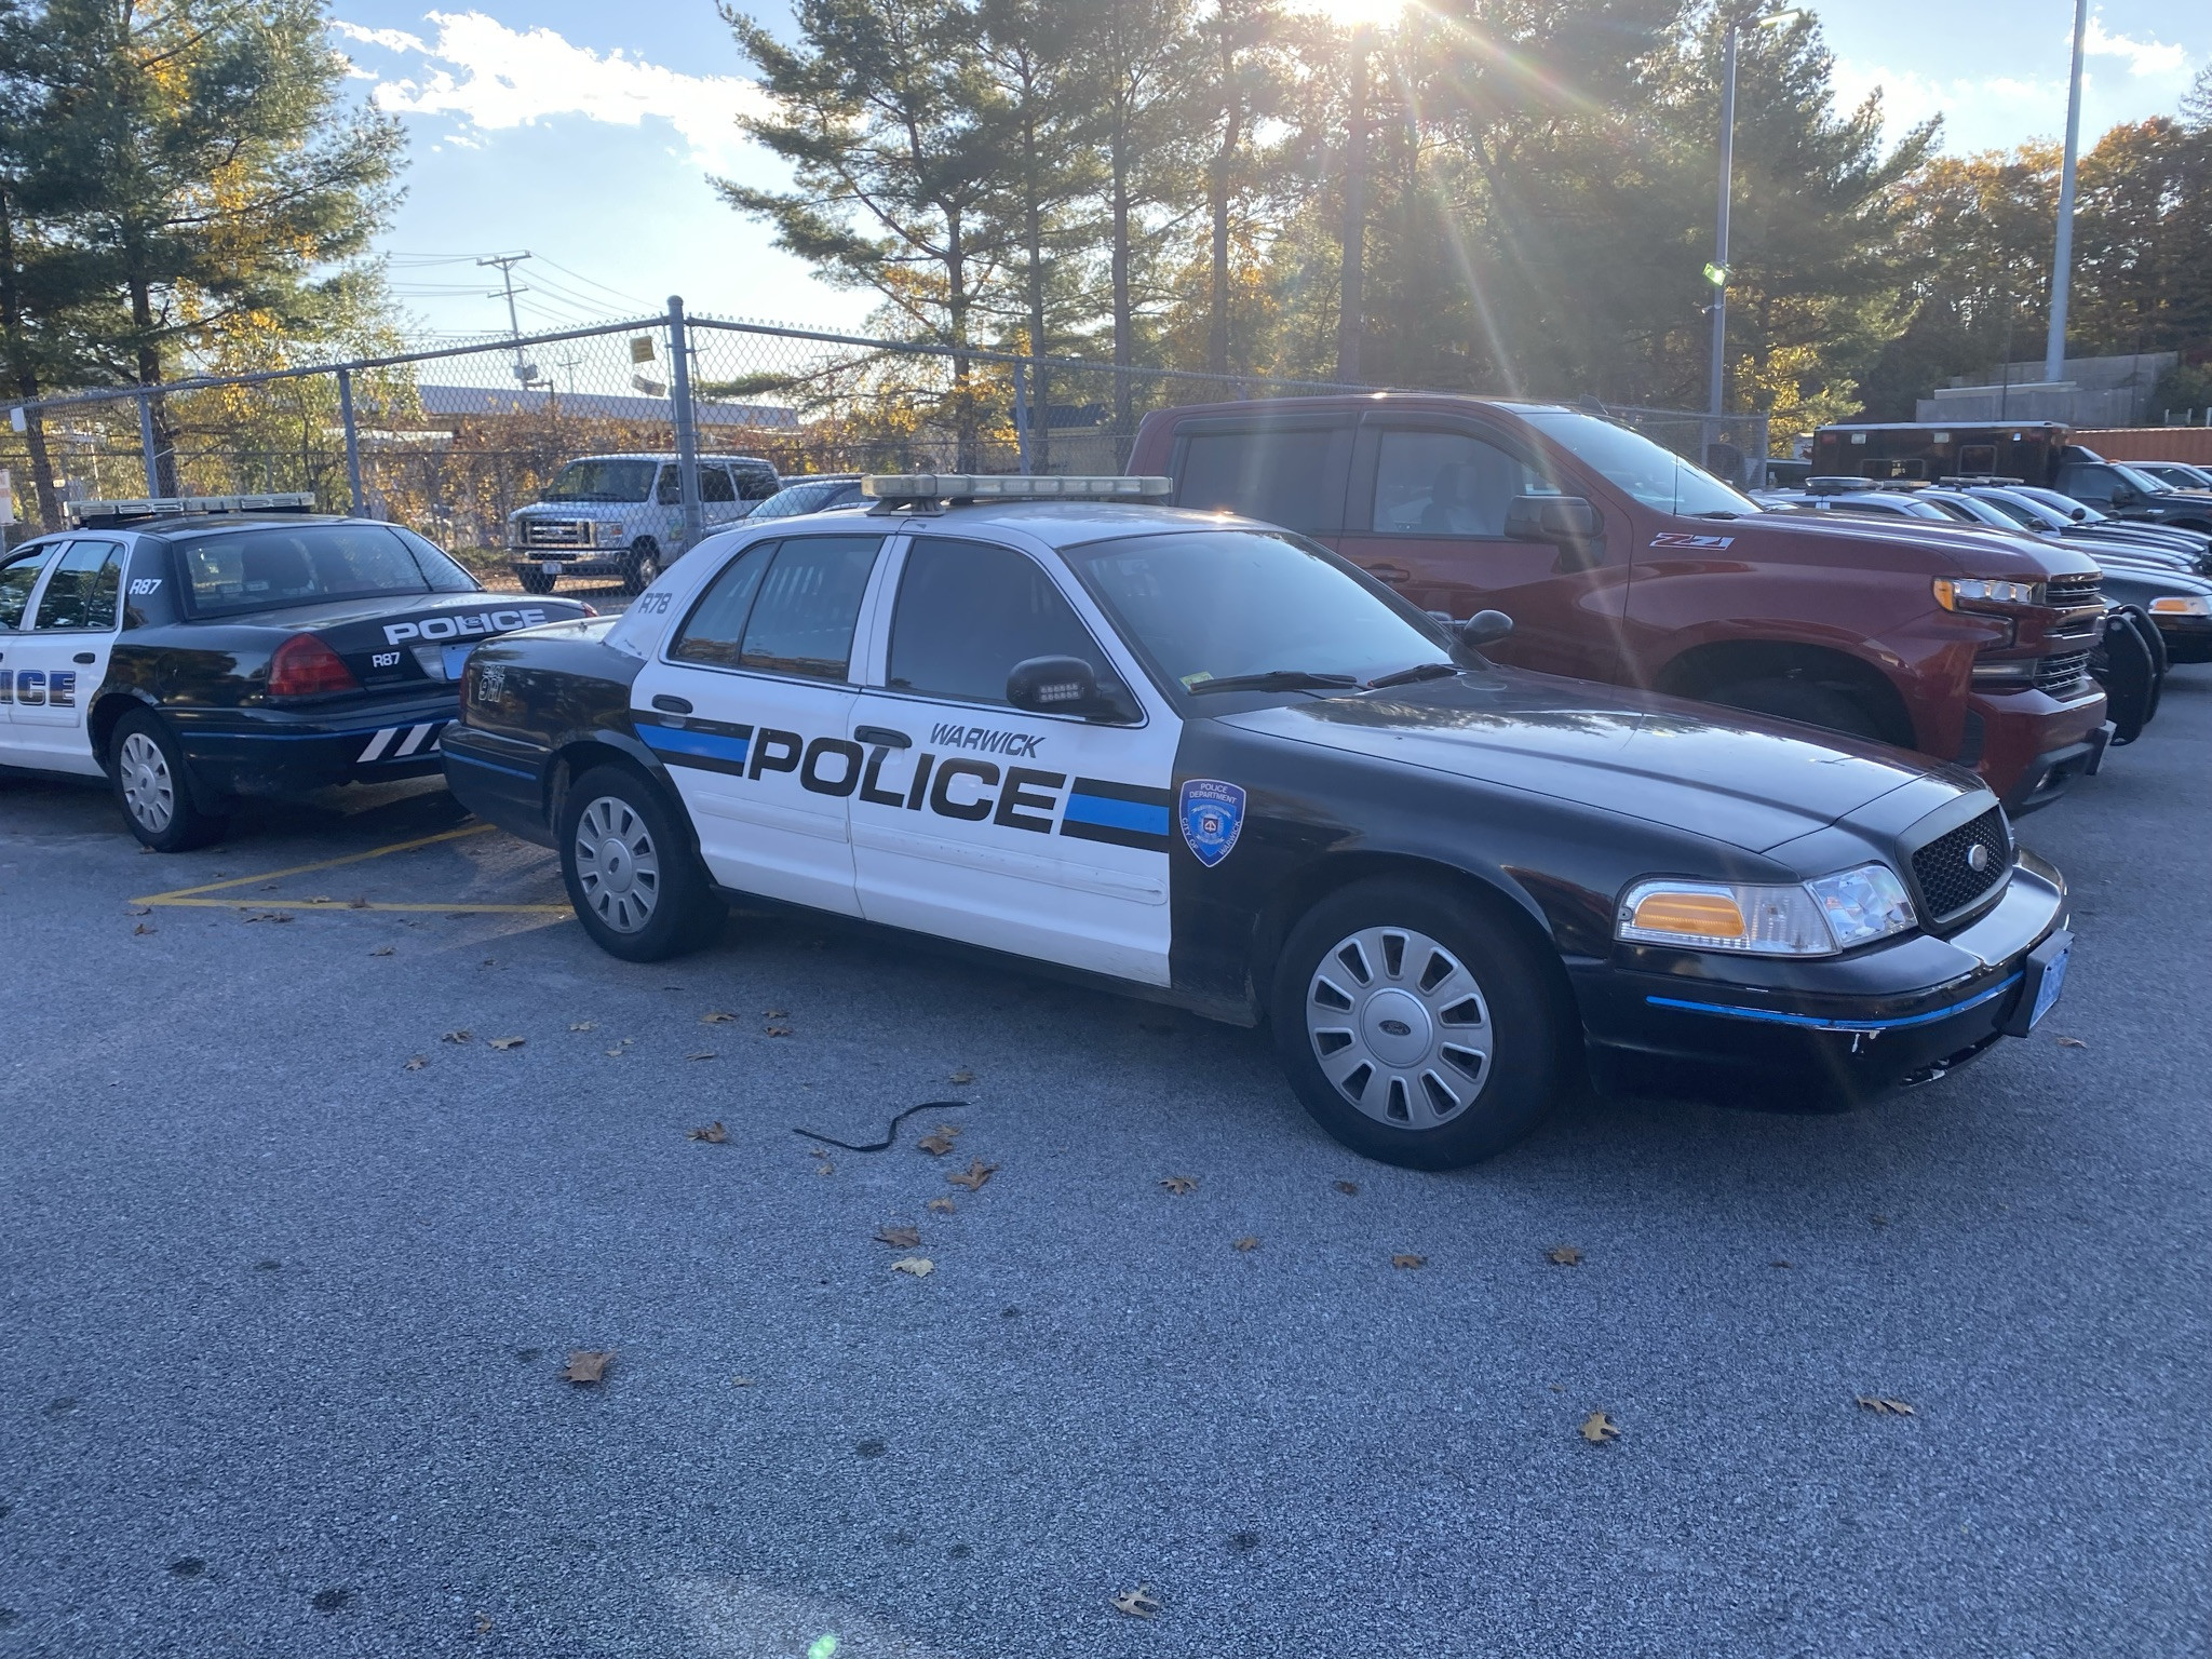
MULTIPOLYGON (((1980 779, 1851 737, 1515 668, 1219 717, 1292 743, 1449 772, 1767 852, 1913 783, 1980 779)), ((1929 803, 1933 805, 1933 801, 1929 803)))

